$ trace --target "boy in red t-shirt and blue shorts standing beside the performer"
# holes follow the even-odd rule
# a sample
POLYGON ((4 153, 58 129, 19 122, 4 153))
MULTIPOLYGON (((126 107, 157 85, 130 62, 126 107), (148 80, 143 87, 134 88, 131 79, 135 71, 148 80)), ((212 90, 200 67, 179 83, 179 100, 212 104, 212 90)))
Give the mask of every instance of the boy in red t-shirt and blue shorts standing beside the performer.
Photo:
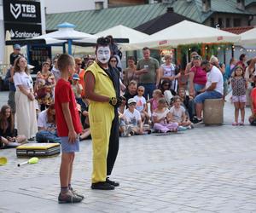
POLYGON ((79 152, 79 133, 82 126, 79 119, 79 112, 68 78, 74 72, 74 60, 70 55, 61 55, 58 58, 58 67, 61 78, 55 87, 55 117, 57 132, 61 137, 61 168, 60 181, 61 193, 58 201, 63 203, 79 203, 84 199, 73 191, 71 187, 71 176, 73 170, 73 159, 75 152, 79 152))

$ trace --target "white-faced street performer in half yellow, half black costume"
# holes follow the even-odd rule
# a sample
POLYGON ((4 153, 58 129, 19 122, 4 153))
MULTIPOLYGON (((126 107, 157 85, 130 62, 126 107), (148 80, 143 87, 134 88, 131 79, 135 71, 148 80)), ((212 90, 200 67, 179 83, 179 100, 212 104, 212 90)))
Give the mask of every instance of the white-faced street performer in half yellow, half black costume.
POLYGON ((118 107, 119 72, 108 67, 109 38, 99 37, 96 43, 96 61, 84 75, 85 98, 90 100, 89 120, 93 149, 91 188, 113 190, 119 183, 110 181, 113 164, 119 150, 118 107))

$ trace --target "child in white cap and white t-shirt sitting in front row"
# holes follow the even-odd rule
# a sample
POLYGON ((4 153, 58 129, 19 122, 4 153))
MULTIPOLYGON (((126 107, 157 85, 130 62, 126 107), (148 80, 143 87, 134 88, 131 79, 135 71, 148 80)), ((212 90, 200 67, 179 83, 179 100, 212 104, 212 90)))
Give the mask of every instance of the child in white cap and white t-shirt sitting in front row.
POLYGON ((133 134, 142 135, 143 134, 143 122, 140 112, 136 109, 136 100, 131 98, 127 101, 128 109, 125 110, 124 116, 127 124, 131 125, 131 132, 133 134))

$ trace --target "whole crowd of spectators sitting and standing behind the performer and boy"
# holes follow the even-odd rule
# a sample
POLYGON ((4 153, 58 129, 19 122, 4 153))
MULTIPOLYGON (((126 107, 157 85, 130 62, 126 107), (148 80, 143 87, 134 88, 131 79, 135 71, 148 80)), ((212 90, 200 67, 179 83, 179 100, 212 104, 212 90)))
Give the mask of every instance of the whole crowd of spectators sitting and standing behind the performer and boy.
MULTIPOLYGON (((9 83, 9 101, 0 112, 1 147, 16 147, 26 140, 60 142, 54 107, 55 84, 60 78, 58 55, 52 63, 44 61, 33 83, 26 58, 20 54, 20 45, 14 48, 5 78, 9 83)), ((233 125, 244 125, 247 101, 252 108, 249 122, 256 124, 256 58, 247 60, 247 55, 241 55, 239 60, 232 58, 225 66, 214 55, 210 60, 202 60, 201 55, 192 52, 190 62, 181 70, 172 55, 164 55, 164 63, 160 65, 145 47, 143 59, 136 62, 133 56, 128 57, 124 69, 120 66, 122 55, 114 43, 112 49, 108 66, 119 72, 120 93, 126 100, 119 107, 121 136, 193 129, 194 124, 202 121, 204 101, 225 101, 230 90, 235 107, 233 125)), ((91 55, 84 60, 75 58, 75 73, 69 79, 84 127, 80 140, 90 138, 90 101, 85 99, 84 72, 93 63, 96 58, 91 55)))

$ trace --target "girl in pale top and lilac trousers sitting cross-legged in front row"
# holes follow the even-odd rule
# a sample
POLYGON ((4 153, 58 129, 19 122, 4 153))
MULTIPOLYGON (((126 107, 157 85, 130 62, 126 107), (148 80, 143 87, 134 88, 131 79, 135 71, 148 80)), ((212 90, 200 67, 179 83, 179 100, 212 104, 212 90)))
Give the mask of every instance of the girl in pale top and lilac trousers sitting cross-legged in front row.
POLYGON ((158 106, 152 114, 152 120, 154 122, 154 130, 166 133, 176 132, 178 124, 169 122, 169 110, 166 107, 165 98, 160 98, 158 106))

